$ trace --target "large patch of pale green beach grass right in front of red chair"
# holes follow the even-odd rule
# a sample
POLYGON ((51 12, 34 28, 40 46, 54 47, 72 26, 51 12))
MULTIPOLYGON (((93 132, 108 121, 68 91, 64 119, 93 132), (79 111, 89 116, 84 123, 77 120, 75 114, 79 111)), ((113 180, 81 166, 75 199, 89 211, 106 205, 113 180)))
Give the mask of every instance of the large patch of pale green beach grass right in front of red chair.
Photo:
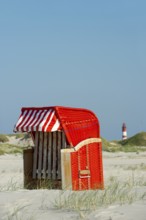
POLYGON ((104 190, 60 191, 54 201, 54 207, 68 211, 77 211, 85 216, 93 210, 108 207, 113 204, 131 204, 134 201, 146 199, 145 193, 138 193, 139 186, 146 186, 143 178, 136 179, 134 175, 121 182, 111 176, 104 190))

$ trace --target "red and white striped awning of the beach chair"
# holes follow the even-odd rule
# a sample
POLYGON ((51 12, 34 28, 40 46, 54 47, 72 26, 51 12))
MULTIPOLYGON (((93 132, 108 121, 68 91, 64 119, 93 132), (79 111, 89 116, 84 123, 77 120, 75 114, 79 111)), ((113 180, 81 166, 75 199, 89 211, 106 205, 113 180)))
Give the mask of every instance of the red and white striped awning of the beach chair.
POLYGON ((57 131, 61 130, 60 121, 53 108, 22 108, 14 132, 57 131))

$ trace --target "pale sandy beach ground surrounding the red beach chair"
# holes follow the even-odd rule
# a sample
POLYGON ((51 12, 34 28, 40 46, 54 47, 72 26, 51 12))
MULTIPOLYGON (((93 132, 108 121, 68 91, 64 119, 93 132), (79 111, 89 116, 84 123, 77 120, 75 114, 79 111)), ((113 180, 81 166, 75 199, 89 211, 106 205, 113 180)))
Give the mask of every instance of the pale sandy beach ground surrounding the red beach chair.
MULTIPOLYGON (((109 179, 133 181, 138 195, 134 201, 118 202, 93 210, 71 210, 56 207, 62 190, 26 190, 23 188, 23 156, 0 156, 1 220, 145 220, 146 219, 146 153, 103 152, 105 189, 109 179), (57 201, 57 202, 56 202, 57 201)), ((66 192, 65 192, 66 193, 66 192)))

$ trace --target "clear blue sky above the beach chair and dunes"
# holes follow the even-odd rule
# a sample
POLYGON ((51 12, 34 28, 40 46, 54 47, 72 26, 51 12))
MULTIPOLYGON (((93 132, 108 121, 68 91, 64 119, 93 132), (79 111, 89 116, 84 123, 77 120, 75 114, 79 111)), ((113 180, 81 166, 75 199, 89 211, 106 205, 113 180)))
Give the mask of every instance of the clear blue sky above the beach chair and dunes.
POLYGON ((0 133, 21 107, 92 110, 101 136, 146 131, 145 0, 0 0, 0 133))

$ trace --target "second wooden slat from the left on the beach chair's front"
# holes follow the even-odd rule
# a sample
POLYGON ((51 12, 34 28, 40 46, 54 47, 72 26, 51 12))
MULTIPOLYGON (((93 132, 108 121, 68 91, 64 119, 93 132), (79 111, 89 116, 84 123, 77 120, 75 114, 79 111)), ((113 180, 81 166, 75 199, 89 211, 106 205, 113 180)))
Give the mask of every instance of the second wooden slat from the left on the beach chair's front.
POLYGON ((38 161, 38 179, 41 179, 42 174, 42 152, 43 152, 43 132, 40 132, 39 138, 39 161, 38 161))

